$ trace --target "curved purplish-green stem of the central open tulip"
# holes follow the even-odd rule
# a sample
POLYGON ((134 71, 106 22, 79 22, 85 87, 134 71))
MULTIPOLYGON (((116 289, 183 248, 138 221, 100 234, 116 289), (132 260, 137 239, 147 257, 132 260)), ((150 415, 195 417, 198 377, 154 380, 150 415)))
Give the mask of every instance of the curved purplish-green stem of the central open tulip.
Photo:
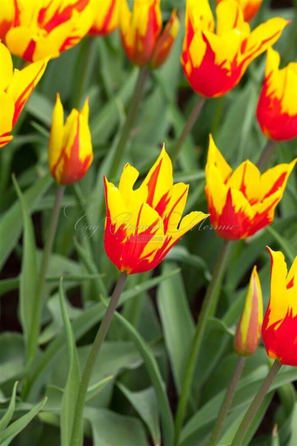
POLYGON ((82 419, 83 419, 83 409, 85 405, 86 393, 88 390, 89 381, 95 366, 95 362, 101 348, 102 342, 105 339, 106 333, 110 326, 112 316, 117 308, 124 284, 127 280, 126 273, 121 273, 117 285, 112 293, 109 305, 107 307, 106 313, 102 319, 99 330, 97 332, 96 338, 92 345, 91 351, 89 353, 78 390, 75 412, 74 412, 74 423, 71 438, 71 446, 79 446, 81 440, 81 429, 82 429, 82 419))

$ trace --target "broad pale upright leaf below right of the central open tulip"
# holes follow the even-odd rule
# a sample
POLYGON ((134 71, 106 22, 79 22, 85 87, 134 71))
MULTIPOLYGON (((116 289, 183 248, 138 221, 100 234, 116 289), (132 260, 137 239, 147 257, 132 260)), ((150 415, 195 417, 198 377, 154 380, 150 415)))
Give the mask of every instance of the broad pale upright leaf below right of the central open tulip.
MULTIPOLYGON (((175 268, 175 263, 164 262, 162 272, 166 274, 175 268)), ((174 382, 179 393, 194 336, 194 321, 181 273, 159 285, 157 304, 173 368, 174 382)))

